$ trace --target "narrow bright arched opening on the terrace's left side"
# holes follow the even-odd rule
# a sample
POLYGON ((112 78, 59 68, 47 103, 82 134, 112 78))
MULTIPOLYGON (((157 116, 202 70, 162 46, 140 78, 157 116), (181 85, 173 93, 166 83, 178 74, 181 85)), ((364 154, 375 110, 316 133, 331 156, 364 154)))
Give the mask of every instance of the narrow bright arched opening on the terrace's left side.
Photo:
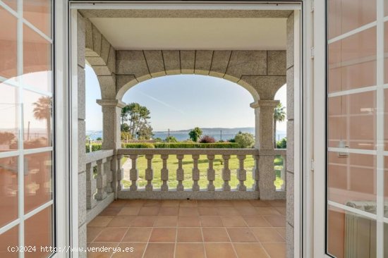
POLYGON ((102 113, 101 106, 96 99, 101 99, 101 90, 95 70, 85 66, 85 135, 90 151, 92 142, 102 141, 102 113))

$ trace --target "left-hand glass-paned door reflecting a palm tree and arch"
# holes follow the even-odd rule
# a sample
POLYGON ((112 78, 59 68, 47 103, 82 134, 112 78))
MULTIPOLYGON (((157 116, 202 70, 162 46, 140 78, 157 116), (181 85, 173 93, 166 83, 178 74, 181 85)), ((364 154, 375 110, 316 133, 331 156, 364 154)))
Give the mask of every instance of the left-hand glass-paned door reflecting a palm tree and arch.
POLYGON ((52 4, 0 0, 0 257, 54 246, 52 4))

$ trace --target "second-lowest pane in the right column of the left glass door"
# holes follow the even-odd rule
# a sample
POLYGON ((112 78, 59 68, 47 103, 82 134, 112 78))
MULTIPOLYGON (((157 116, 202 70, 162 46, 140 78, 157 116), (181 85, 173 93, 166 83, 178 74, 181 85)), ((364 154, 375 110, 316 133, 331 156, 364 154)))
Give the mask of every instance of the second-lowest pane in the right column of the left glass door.
POLYGON ((28 213, 52 198, 51 152, 24 156, 24 209, 28 213))

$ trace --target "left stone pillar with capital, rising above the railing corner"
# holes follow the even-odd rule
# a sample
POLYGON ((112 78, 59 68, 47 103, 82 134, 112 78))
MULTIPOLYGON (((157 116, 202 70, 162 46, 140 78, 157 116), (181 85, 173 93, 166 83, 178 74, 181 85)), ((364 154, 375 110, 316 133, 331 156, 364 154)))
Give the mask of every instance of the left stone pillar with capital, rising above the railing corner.
POLYGON ((120 115, 126 106, 118 99, 97 99, 102 106, 102 149, 120 149, 120 115))

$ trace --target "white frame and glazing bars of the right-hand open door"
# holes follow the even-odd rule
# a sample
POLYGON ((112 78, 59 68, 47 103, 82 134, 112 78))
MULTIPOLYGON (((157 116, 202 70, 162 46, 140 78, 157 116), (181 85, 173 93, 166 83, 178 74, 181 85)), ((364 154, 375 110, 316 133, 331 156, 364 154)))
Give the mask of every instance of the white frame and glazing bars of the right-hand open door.
MULTIPOLYGON (((314 43, 315 43, 315 62, 314 62, 314 121, 313 121, 313 138, 314 148, 313 156, 315 161, 314 169, 314 223, 311 224, 314 228, 313 241, 313 257, 331 257, 326 254, 326 238, 327 238, 327 223, 326 223, 326 81, 327 81, 327 38, 325 33, 326 27, 326 1, 315 1, 314 13, 314 43)), ((330 39, 329 42, 334 42, 339 39, 353 35, 356 32, 366 30, 370 27, 377 27, 377 85, 363 87, 356 90, 348 90, 344 92, 336 92, 329 94, 330 97, 340 96, 344 94, 353 94, 358 92, 375 91, 377 94, 377 149, 363 150, 363 149, 345 149, 345 148, 329 148, 329 151, 348 152, 359 154, 374 154, 377 159, 376 173, 377 173, 377 214, 370 214, 365 211, 353 209, 336 202, 328 201, 327 203, 353 212, 362 216, 366 216, 377 222, 377 258, 384 256, 384 223, 388 223, 388 219, 384 218, 384 89, 388 88, 384 84, 384 0, 377 0, 377 20, 375 22, 364 25, 351 32, 346 32, 344 35, 330 39), (380 111, 380 112, 379 112, 380 111)), ((387 44, 387 43, 386 43, 387 44)), ((385 129, 386 130, 386 129, 385 129)), ((387 166, 387 164, 385 165, 387 166)), ((388 248, 388 247, 386 247, 388 248)))

